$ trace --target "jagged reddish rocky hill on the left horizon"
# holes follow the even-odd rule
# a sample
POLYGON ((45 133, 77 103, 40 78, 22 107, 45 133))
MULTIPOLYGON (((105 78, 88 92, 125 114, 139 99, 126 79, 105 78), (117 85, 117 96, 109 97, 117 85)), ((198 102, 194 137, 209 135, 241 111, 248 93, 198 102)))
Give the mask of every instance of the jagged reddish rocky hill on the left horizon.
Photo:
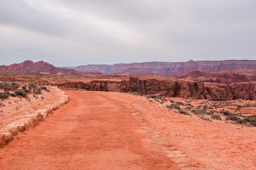
POLYGON ((101 75, 100 72, 80 72, 74 69, 60 69, 44 61, 24 61, 19 64, 11 64, 9 66, 1 65, 0 72, 14 72, 14 73, 45 73, 57 75, 101 75))

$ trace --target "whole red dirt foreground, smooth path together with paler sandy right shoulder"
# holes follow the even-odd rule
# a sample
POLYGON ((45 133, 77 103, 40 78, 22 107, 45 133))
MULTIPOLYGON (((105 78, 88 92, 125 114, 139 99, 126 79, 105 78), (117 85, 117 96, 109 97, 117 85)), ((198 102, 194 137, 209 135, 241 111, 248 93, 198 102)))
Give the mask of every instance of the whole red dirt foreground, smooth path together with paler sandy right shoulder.
POLYGON ((0 169, 256 167, 254 127, 177 114, 130 94, 65 93, 68 104, 0 148, 0 169))

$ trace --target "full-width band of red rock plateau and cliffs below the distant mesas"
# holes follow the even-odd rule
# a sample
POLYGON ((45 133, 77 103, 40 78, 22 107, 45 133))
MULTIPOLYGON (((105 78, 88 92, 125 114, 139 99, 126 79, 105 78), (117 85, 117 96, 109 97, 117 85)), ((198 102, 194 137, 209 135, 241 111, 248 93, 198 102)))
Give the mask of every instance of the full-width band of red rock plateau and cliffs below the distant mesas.
POLYGON ((63 89, 78 88, 93 91, 137 92, 144 95, 159 93, 169 97, 192 97, 194 99, 209 100, 256 100, 256 73, 254 70, 217 71, 215 74, 211 72, 194 74, 195 71, 191 72, 182 75, 165 76, 135 73, 93 76, 2 73, 2 75, 0 74, 0 79, 8 82, 28 83, 36 81, 42 85, 54 85, 63 89), (208 78, 201 77, 207 75, 209 76, 208 78), (230 75, 233 77, 228 77, 230 75), (193 76, 199 77, 194 78, 193 76), (226 84, 223 82, 226 82, 226 84))

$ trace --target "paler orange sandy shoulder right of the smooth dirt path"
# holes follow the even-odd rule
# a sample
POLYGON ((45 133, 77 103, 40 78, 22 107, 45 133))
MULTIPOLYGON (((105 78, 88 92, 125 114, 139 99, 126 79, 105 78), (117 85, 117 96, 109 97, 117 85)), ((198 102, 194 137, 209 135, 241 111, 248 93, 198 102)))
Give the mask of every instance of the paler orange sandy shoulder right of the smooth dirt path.
POLYGON ((95 92, 118 101, 141 124, 155 149, 177 165, 222 170, 256 169, 256 128, 213 122, 174 113, 145 97, 117 92, 95 92), (176 151, 172 150, 176 148, 176 151), (179 152, 187 156, 179 156, 179 152), (170 155, 171 154, 171 155, 170 155), (177 156, 177 157, 174 157, 177 156), (186 165, 184 164, 184 165, 186 165))

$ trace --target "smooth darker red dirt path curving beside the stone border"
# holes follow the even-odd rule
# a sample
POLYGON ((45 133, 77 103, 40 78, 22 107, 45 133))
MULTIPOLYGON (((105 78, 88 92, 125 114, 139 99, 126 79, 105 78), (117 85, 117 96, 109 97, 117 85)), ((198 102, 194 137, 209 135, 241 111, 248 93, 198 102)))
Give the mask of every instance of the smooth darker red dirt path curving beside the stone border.
POLYGON ((65 91, 70 102, 0 148, 0 169, 179 169, 117 101, 65 91))

